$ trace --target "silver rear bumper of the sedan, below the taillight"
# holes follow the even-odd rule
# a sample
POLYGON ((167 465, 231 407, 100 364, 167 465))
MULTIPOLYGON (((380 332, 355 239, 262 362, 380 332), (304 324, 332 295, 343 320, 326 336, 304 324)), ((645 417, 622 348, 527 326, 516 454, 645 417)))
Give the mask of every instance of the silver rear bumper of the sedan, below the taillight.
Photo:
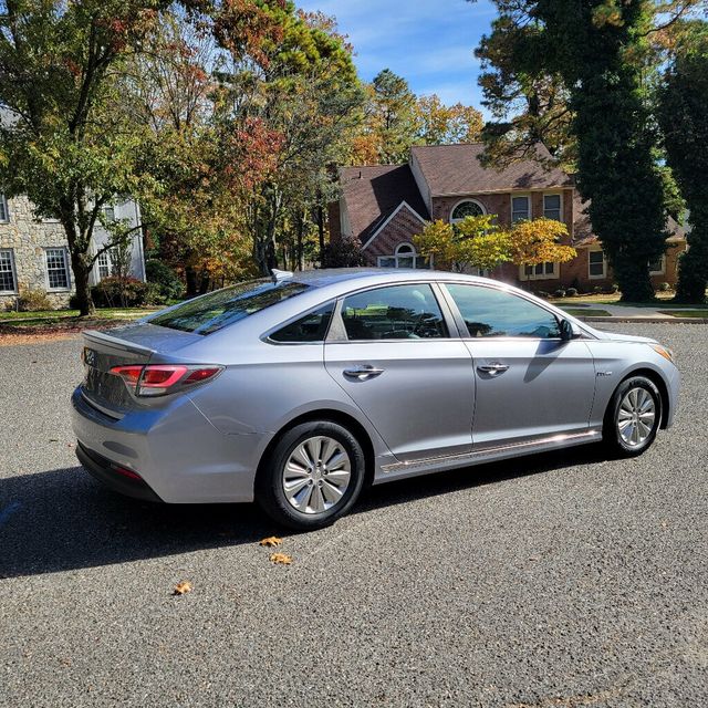
POLYGON ((158 499, 170 503, 252 501, 256 470, 268 442, 259 434, 220 433, 185 396, 116 420, 93 407, 81 386, 72 396, 72 427, 81 446, 77 456, 94 477, 131 493, 135 486, 116 486, 115 475, 106 478, 105 468, 132 470, 158 499), (93 461, 86 460, 86 452, 93 454, 93 461))

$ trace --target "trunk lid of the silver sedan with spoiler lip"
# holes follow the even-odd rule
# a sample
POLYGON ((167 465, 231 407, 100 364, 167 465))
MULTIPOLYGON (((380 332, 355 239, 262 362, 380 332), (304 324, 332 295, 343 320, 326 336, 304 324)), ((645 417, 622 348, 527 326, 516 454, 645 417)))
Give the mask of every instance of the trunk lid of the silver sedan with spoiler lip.
POLYGON ((111 374, 114 366, 145 365, 154 358, 164 363, 185 346, 200 341, 198 334, 167 330, 149 323, 137 323, 102 332, 83 333, 84 382, 81 391, 92 406, 122 418, 128 410, 148 407, 131 395, 121 376, 111 374))

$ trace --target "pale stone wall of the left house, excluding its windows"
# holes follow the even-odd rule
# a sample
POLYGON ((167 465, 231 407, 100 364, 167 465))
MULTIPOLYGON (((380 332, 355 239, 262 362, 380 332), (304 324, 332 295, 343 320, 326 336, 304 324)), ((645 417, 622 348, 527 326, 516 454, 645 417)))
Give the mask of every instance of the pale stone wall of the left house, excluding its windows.
MULTIPOLYGON (((0 198, 2 198, 0 196, 0 198)), ((30 291, 41 291, 46 294, 53 308, 69 306, 69 300, 74 292, 74 278, 71 271, 66 237, 61 223, 56 221, 37 221, 32 214, 32 206, 27 197, 3 199, 4 220, 0 221, 0 266, 8 263, 8 253, 12 266, 12 277, 4 274, 0 279, 0 289, 8 280, 12 281, 12 290, 0 290, 0 309, 15 305, 18 296, 30 291), (51 249, 53 262, 58 258, 61 264, 63 253, 66 264, 67 287, 51 288, 48 269, 48 249, 51 249)), ((1 210, 0 210, 1 211, 1 210)), ((139 210, 133 201, 127 201, 114 207, 116 219, 126 219, 131 225, 137 225, 139 210)), ((95 243, 105 243, 108 235, 100 228, 95 229, 95 243)), ((145 264, 143 259, 142 240, 139 237, 133 240, 131 274, 145 280, 145 264)), ((0 273, 1 274, 1 273, 0 273)), ((91 283, 98 282, 101 275, 97 266, 91 274, 91 283)), ((61 278, 60 278, 61 279, 61 278)))

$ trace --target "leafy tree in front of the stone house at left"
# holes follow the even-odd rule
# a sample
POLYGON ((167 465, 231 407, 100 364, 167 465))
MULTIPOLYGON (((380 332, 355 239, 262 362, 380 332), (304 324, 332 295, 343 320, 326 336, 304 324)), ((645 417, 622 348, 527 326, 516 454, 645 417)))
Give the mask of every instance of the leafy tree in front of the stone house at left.
MULTIPOLYGON (((94 229, 114 229, 103 208, 137 188, 143 135, 113 76, 149 31, 156 7, 152 0, 0 3, 0 105, 7 113, 0 178, 8 195, 30 198, 38 218, 61 222, 82 315, 93 311, 94 229)), ((125 230, 116 227, 114 237, 122 241, 125 230)))

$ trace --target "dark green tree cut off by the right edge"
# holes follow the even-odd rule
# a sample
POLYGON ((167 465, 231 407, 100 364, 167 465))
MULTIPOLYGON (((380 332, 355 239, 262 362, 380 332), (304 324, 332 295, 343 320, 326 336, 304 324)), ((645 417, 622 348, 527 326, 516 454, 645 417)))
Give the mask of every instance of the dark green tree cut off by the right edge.
POLYGON ((702 303, 708 284, 708 24, 693 22, 659 88, 658 115, 674 176, 690 211, 676 299, 702 303))

